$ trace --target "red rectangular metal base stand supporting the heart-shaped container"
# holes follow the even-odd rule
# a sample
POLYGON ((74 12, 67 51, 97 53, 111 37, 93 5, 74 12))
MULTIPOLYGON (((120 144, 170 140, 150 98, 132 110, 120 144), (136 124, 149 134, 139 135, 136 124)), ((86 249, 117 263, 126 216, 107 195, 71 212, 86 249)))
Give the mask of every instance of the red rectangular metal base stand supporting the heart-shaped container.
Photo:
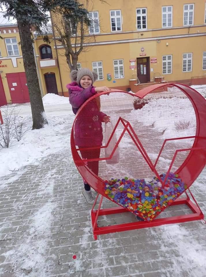
POLYGON ((124 224, 115 224, 115 225, 104 226, 104 227, 98 227, 98 224, 97 224, 98 216, 104 216, 104 215, 109 215, 109 214, 119 214, 119 213, 129 212, 129 210, 126 208, 123 208, 123 207, 100 209, 101 205, 102 205, 102 199, 104 196, 101 196, 98 209, 94 210, 94 206, 95 206, 96 201, 99 196, 99 194, 98 194, 95 199, 95 203, 92 207, 92 210, 91 210, 91 221, 92 221, 94 239, 96 240, 98 235, 103 235, 103 234, 108 234, 108 233, 115 233, 115 232, 129 231, 129 230, 134 230, 134 229, 155 227, 155 226, 159 226, 159 225, 163 225, 163 224, 181 223, 181 222, 188 222, 188 221, 200 220, 200 219, 203 220, 204 215, 203 215, 200 207, 198 206, 196 200, 194 199, 194 196, 192 195, 190 190, 189 190, 189 192, 192 196, 192 199, 194 200, 194 202, 196 204, 194 204, 190 200, 188 193, 185 192, 187 197, 176 199, 171 204, 171 206, 186 204, 191 209, 193 214, 184 214, 182 216, 172 216, 172 217, 168 217, 168 218, 153 219, 151 222, 137 221, 137 222, 131 222, 131 223, 124 223, 124 224))

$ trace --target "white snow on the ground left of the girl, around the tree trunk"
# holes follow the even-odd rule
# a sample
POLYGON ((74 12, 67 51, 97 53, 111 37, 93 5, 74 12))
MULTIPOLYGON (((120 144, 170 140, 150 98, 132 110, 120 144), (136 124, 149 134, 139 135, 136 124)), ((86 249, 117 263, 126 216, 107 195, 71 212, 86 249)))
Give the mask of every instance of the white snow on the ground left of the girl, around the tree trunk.
MULTIPOLYGON (((48 111, 46 109, 47 106, 45 106, 48 125, 39 130, 31 130, 30 104, 12 105, 12 108, 14 106, 19 116, 26 118, 27 126, 30 130, 19 142, 15 141, 9 148, 0 149, 0 176, 11 174, 27 164, 37 164, 49 154, 56 153, 64 148, 70 148, 69 129, 72 126, 74 115, 71 115, 71 105, 68 102, 68 98, 65 99, 67 104, 65 104, 65 100, 62 100, 61 96, 47 95, 46 103, 48 105, 49 103, 51 104, 48 111), (57 104, 58 99, 59 104, 57 104)), ((6 106, 2 107, 1 111, 5 108, 6 106)))

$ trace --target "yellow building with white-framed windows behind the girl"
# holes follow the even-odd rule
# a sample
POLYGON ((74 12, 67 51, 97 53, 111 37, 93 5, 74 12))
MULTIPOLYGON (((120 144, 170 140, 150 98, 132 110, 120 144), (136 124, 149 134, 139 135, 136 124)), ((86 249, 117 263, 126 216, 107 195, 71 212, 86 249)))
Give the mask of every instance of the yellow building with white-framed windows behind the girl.
MULTIPOLYGON (((78 68, 98 72, 96 86, 131 88, 135 92, 153 82, 206 83, 205 0, 107 2, 89 1, 92 21, 86 33, 87 51, 78 57, 78 68)), ((0 66, 7 65, 0 68, 1 80, 10 103, 15 101, 16 81, 8 74, 24 72, 24 68, 18 44, 18 52, 15 50, 14 38, 19 42, 17 27, 0 25, 0 31, 4 38, 0 40, 0 66)), ((35 37, 34 43, 42 95, 53 92, 68 96, 70 70, 64 48, 56 34, 50 38, 50 45, 45 45, 41 36, 35 37)))

